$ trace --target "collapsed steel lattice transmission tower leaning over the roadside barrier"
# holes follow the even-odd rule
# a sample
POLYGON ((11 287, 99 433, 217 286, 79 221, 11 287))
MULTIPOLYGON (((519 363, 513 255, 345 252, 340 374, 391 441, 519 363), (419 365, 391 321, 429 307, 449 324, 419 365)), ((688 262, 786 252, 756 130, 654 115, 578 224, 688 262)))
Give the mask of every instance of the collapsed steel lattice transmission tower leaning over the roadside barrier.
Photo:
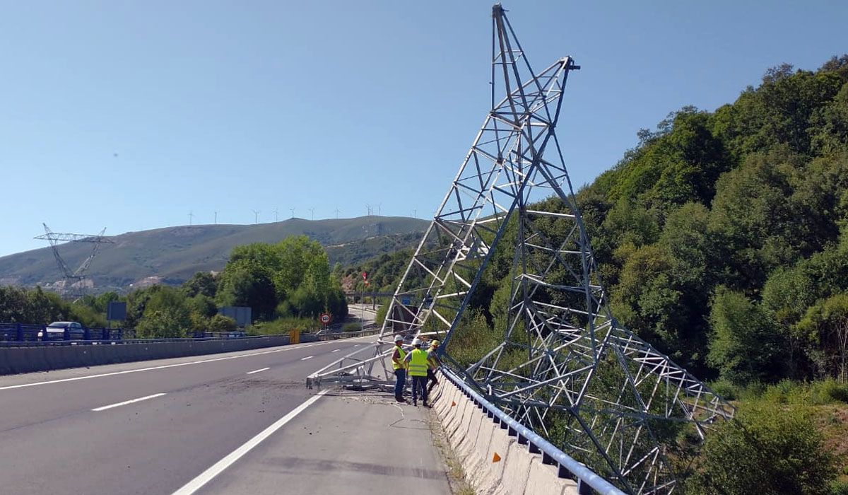
POLYGON ((494 5, 492 110, 377 343, 307 384, 388 385, 394 335, 438 336, 444 364, 563 452, 626 492, 671 493, 680 439, 697 443, 734 409, 612 316, 554 132, 579 67, 566 57, 533 72, 504 12, 494 5), (548 199, 531 205, 532 194, 548 199), (511 269, 489 266, 496 248, 511 269), (499 344, 470 362, 465 313, 487 268, 508 273, 510 292, 491 309, 499 344))

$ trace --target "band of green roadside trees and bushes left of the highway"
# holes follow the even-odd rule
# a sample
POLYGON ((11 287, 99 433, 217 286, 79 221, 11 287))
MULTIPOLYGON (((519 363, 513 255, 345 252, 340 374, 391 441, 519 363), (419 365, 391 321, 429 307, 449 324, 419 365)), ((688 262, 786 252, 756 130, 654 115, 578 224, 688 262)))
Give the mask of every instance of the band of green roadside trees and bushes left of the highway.
POLYGON ((330 312, 337 321, 347 315, 347 302, 332 277, 326 252, 306 236, 270 244, 238 246, 223 272, 196 273, 179 287, 153 285, 127 295, 107 292, 63 301, 41 288, 0 287, 0 322, 41 323, 78 321, 88 327, 106 326, 109 301, 126 301, 126 321, 139 338, 185 337, 197 332, 236 329, 218 307, 251 307, 254 324, 248 334, 284 334, 291 329, 319 328, 316 318, 330 312))

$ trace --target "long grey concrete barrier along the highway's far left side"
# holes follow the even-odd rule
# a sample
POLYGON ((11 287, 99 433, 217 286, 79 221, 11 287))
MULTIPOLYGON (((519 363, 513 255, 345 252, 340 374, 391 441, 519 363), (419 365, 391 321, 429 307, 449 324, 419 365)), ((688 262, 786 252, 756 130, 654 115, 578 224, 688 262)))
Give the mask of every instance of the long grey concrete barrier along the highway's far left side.
MULTIPOLYGON (((301 335, 301 342, 318 340, 301 335)), ((142 342, 137 344, 98 343, 97 345, 0 347, 0 374, 31 373, 51 369, 80 368, 98 364, 130 363, 169 357, 199 356, 219 352, 248 351, 262 347, 285 346, 287 335, 227 340, 186 340, 181 342, 142 342)))

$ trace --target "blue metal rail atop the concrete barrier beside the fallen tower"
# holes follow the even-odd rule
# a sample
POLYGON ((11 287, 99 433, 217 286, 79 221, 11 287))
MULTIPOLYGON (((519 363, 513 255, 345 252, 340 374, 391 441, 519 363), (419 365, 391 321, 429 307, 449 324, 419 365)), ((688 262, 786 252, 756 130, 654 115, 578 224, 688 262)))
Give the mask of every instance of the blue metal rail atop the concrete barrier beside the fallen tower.
POLYGON ((579 463, 568 454, 562 452, 552 443, 548 442, 536 432, 522 425, 516 419, 511 418, 507 413, 501 411, 492 402, 488 402, 477 391, 474 391, 465 381, 460 380, 458 376, 452 373, 449 369, 442 368, 444 377, 451 381, 457 388, 462 391, 477 405, 483 409, 489 418, 492 418, 495 423, 500 425, 502 430, 509 430, 510 436, 517 436, 518 443, 521 445, 528 444, 531 453, 541 453, 542 462, 544 464, 556 464, 559 466, 559 475, 561 478, 571 478, 577 481, 577 493, 581 495, 589 493, 586 487, 591 487, 594 492, 603 495, 626 495, 619 488, 606 481, 600 475, 596 475, 594 471, 586 467, 585 464, 579 463))

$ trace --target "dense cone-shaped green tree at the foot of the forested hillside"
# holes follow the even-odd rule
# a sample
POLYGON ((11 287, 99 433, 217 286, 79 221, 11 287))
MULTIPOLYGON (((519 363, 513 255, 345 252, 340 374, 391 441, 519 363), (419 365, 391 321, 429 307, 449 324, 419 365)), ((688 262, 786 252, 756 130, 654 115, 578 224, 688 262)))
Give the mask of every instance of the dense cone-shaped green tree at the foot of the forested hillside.
POLYGON ((707 362, 723 379, 744 385, 784 376, 787 346, 778 324, 745 295, 719 287, 712 302, 707 362))

